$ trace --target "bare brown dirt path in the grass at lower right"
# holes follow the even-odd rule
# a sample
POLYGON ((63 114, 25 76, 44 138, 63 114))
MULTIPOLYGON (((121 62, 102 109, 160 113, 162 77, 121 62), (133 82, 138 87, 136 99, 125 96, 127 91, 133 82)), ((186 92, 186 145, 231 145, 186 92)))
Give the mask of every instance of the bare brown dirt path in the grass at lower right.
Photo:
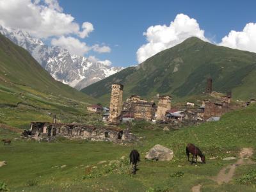
POLYGON ((236 167, 241 164, 255 164, 248 157, 252 157, 253 149, 252 148, 243 148, 240 152, 239 159, 236 164, 230 164, 220 170, 216 177, 212 177, 211 179, 216 181, 218 184, 222 184, 223 182, 228 183, 234 176, 236 167))

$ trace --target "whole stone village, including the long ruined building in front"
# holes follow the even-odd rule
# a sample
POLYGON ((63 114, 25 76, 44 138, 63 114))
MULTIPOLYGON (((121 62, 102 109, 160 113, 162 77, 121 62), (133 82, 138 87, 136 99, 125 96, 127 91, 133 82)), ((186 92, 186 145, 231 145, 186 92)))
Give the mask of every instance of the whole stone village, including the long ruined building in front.
MULTIPOLYGON (((99 104, 87 107, 90 113, 102 115, 102 122, 104 122, 102 126, 63 124, 57 122, 57 118, 54 116, 52 122, 31 122, 30 130, 24 131, 22 135, 31 136, 36 140, 47 138, 48 141, 55 136, 63 136, 92 141, 126 143, 134 142, 137 138, 129 129, 120 129, 118 127, 120 124, 144 120, 152 124, 165 124, 169 128, 180 129, 180 127, 188 125, 218 121, 221 115, 238 108, 235 102, 234 104, 231 102, 231 92, 227 92, 226 95, 212 92, 212 79, 207 79, 207 86, 203 93, 210 98, 209 100, 197 100, 197 103, 186 102, 178 107, 172 106, 172 96, 170 95, 157 95, 157 104, 154 100, 141 99, 140 95, 131 95, 123 102, 123 91, 122 84, 112 84, 109 108, 99 104)), ((246 105, 251 102, 255 102, 255 100, 250 100, 246 105)))

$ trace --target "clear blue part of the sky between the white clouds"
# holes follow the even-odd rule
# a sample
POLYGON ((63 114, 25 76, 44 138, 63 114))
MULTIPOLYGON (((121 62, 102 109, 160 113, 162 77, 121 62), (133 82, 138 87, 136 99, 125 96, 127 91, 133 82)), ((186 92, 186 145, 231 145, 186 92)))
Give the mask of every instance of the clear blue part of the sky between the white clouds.
POLYGON ((84 41, 104 42, 110 53, 95 54, 114 66, 138 63, 136 51, 146 43, 143 32, 154 25, 169 25, 178 13, 196 19, 205 37, 221 42, 231 30, 242 31, 256 22, 256 1, 59 1, 65 13, 95 28, 84 41))

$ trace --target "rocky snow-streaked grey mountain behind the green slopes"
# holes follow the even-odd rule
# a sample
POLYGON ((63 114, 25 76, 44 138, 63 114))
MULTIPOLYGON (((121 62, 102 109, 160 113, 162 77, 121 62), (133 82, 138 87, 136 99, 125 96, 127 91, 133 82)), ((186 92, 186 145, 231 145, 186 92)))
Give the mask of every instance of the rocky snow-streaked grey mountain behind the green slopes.
POLYGON ((61 47, 45 45, 42 40, 33 38, 26 31, 7 29, 0 25, 0 33, 29 51, 54 79, 78 90, 123 69, 110 67, 102 61, 70 54, 61 47))

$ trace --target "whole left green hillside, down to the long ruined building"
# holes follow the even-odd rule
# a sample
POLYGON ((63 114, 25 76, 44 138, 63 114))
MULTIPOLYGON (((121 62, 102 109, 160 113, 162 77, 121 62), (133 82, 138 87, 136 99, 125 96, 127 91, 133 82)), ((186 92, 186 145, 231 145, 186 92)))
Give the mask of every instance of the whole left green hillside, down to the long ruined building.
POLYGON ((28 51, 0 34, 0 123, 28 128, 34 120, 81 122, 97 100, 55 81, 28 51))

